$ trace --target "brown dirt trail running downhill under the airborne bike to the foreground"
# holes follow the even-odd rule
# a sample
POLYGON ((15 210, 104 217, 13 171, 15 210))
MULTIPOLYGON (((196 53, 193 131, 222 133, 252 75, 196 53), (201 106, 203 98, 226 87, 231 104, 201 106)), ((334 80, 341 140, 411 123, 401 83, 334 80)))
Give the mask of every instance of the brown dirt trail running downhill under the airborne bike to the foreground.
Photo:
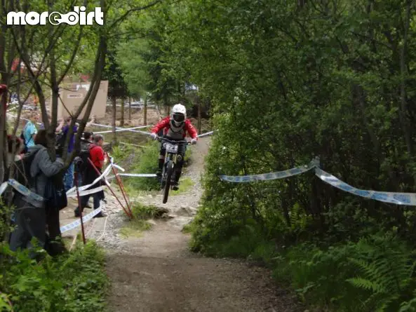
POLYGON ((142 203, 168 208, 175 217, 157 221, 141 238, 118 238, 107 245, 109 311, 303 311, 293 294, 276 287, 269 271, 188 251, 189 235, 180 230, 199 204, 199 179, 209 142, 201 138, 192 147, 192 164, 184 173, 195 183, 192 191, 171 196, 166 205, 161 195, 141 198, 142 203))

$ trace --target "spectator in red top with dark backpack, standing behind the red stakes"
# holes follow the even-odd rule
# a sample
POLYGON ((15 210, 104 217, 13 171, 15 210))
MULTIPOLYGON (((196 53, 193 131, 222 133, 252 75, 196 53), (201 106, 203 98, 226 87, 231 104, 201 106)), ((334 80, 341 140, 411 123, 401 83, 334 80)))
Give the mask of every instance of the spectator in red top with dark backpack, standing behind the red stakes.
MULTIPOLYGON (((102 135, 95 135, 94 136, 94 143, 90 144, 90 160, 93 162, 94 167, 88 162, 88 165, 86 166, 86 172, 85 172, 85 181, 84 184, 88 185, 94 182, 95 179, 100 177, 102 172, 102 167, 104 166, 104 149, 102 149, 102 144, 104 144, 104 137, 102 135), (97 169, 97 170, 95 170, 97 169)), ((100 181, 99 184, 94 184, 90 186, 88 189, 95 189, 98 187, 98 185, 102 185, 102 182, 100 181)), ((93 196, 93 202, 94 202, 94 210, 100 208, 100 201, 104 200, 104 191, 99 191, 98 193, 86 195, 81 197, 81 213, 83 212, 83 208, 86 208, 86 205, 88 204, 88 201, 90 199, 90 196, 93 196)), ((75 217, 80 216, 79 207, 77 207, 74 210, 75 217)), ((105 214, 100 212, 98 215, 95 215, 95 217, 105 217, 105 214)))

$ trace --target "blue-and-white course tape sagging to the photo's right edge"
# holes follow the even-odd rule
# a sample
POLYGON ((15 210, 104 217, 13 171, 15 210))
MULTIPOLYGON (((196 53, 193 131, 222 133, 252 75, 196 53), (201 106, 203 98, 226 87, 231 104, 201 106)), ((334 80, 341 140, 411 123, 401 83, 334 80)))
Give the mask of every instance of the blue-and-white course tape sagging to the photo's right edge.
POLYGON ((363 198, 370 198, 384 203, 394 203, 396 205, 416 206, 416 194, 414 193, 396 193, 356 189, 354 186, 342 182, 337 177, 330 175, 328 172, 325 172, 320 168, 316 168, 315 173, 316 176, 318 176, 323 182, 335 186, 337 189, 342 189, 342 191, 347 191, 363 198))

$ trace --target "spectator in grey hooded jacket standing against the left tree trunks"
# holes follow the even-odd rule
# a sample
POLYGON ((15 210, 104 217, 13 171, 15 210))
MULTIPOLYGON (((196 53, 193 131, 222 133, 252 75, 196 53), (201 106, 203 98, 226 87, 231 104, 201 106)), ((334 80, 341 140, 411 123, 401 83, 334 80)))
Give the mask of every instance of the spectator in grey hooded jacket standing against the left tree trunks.
MULTIPOLYGON (((34 146, 29 147, 29 154, 36 153, 30 166, 29 175, 33 179, 30 190, 40 196, 43 195, 48 179, 56 175, 64 166, 62 159, 52 161, 46 149, 46 130, 39 130, 34 138, 34 146)), ((15 210, 15 222, 18 226, 11 234, 10 247, 16 251, 29 245, 32 238, 36 238, 41 247, 46 247, 46 220, 48 219, 48 231, 50 236, 55 236, 59 231, 59 212, 58 217, 51 217, 51 209, 46 214, 45 203, 36 201, 27 196, 16 194, 13 204, 18 209, 15 210), (51 219, 57 224, 51 224, 51 219), (58 231, 56 229, 58 228, 58 231), (55 232, 54 232, 55 231, 55 232)), ((31 253, 35 257, 34 253, 31 253)))

